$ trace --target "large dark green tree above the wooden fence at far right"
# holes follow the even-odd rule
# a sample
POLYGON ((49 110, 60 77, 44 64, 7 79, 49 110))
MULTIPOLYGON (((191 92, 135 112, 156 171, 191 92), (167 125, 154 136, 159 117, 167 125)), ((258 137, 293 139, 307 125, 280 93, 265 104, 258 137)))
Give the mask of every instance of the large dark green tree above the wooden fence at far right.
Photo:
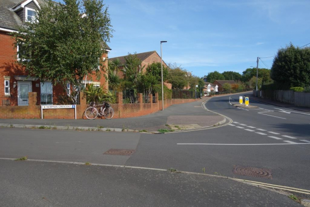
POLYGON ((271 67, 271 78, 283 89, 310 85, 310 48, 296 48, 291 43, 278 50, 271 67))

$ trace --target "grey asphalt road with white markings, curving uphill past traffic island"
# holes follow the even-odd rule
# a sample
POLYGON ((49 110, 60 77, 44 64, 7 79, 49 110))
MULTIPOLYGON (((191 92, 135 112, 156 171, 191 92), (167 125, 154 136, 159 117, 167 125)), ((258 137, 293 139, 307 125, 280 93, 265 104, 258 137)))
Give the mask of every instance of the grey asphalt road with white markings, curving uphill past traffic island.
MULTIPOLYGON (((0 158, 28 156, 29 159, 174 168, 198 173, 202 173, 204 168, 206 174, 310 190, 309 113, 252 103, 251 100, 250 103, 258 109, 239 109, 230 104, 238 101, 238 97, 214 97, 205 104, 208 110, 233 120, 230 125, 207 130, 155 135, 3 127, 0 128, 0 158), (110 148, 135 149, 136 152, 131 156, 104 155, 110 148), (234 165, 270 169, 272 178, 234 174, 234 165)), ((210 111, 208 113, 211 114, 210 111)), ((0 166, 4 166, 2 161, 0 166)), ((15 173, 15 167, 9 164, 6 168, 15 173)), ((36 167, 32 173, 35 169, 44 171, 41 165, 36 167)), ((67 173, 61 172, 59 176, 67 173)), ((227 183, 227 186, 231 184, 227 183)), ((83 191, 82 184, 77 183, 77 188, 83 191)), ((226 195, 227 192, 219 194, 226 195)), ((181 203, 179 205, 182 206, 181 203)))

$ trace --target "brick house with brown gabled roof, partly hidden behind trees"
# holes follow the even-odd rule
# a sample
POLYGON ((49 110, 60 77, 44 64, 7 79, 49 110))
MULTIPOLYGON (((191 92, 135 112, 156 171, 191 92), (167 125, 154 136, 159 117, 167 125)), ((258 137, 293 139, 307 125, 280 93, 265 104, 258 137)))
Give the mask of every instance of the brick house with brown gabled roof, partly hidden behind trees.
MULTIPOLYGON (((116 60, 116 59, 119 59, 120 62, 121 62, 121 68, 120 69, 123 69, 125 64, 126 64, 126 60, 125 60, 125 57, 127 57, 127 55, 125 56, 120 56, 120 57, 114 57, 114 58, 109 58, 109 61, 113 61, 113 60, 116 60)), ((152 63, 160 63, 161 62, 161 58, 160 56, 158 55, 158 53, 156 51, 150 51, 150 52, 142 52, 142 53, 137 53, 137 57, 140 59, 141 61, 141 65, 140 65, 140 73, 145 73, 146 71, 146 68, 149 64, 152 64, 152 63)), ((163 61, 163 66, 167 67, 167 64, 163 61)), ((124 77, 124 74, 122 71, 120 71, 118 73, 119 77, 120 78, 123 78, 124 77)), ((164 82, 164 84, 169 88, 171 89, 172 88, 172 84, 171 83, 168 83, 168 82, 164 82)))

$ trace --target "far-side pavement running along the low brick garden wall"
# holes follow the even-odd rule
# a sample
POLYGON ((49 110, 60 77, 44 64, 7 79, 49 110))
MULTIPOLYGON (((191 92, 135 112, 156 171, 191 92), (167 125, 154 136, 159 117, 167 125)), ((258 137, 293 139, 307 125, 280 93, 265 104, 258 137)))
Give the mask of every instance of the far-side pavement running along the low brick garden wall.
POLYGON ((205 100, 206 98, 203 98, 191 103, 172 105, 164 111, 125 119, 0 119, 0 124, 51 127, 100 127, 125 129, 125 131, 126 129, 157 131, 161 128, 170 129, 167 125, 189 125, 188 127, 191 127, 190 125, 196 125, 196 128, 200 128, 222 123, 224 121, 223 117, 202 108, 202 101, 205 100))

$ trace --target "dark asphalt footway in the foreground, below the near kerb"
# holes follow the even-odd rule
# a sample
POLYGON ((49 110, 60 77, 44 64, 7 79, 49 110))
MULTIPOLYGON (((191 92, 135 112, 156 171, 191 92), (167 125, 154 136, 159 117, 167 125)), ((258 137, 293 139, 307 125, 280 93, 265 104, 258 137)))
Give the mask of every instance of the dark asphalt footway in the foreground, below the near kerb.
POLYGON ((229 179, 145 169, 0 160, 1 207, 299 207, 229 179))

